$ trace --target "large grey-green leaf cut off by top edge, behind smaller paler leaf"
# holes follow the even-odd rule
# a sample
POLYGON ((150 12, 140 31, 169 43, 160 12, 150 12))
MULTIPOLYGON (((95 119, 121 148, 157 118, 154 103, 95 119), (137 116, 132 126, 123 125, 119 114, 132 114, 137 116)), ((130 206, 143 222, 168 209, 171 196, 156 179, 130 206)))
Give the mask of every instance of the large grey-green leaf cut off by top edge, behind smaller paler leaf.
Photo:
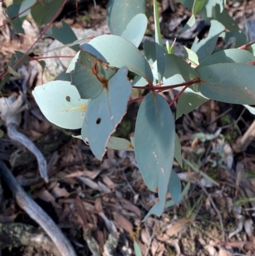
POLYGON ((121 36, 129 22, 139 13, 145 14, 145 0, 110 0, 106 20, 112 34, 121 36))

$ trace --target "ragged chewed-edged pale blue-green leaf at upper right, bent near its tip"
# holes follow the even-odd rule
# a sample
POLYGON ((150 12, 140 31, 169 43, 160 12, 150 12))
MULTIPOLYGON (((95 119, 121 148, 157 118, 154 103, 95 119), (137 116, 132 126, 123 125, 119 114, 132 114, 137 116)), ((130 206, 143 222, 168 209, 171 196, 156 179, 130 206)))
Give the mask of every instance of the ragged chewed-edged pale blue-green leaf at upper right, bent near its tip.
POLYGON ((214 52, 215 45, 217 43, 219 34, 224 31, 225 27, 217 20, 211 20, 211 27, 207 38, 199 40, 195 38, 191 50, 196 52, 199 61, 203 61, 214 52))

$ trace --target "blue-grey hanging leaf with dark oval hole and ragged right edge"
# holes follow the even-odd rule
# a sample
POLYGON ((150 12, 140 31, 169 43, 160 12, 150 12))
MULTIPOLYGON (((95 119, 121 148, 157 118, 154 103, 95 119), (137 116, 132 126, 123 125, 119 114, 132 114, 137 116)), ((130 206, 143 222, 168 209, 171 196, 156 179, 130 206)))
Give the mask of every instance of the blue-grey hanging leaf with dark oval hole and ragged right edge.
POLYGON ((89 102, 86 120, 89 145, 93 154, 101 160, 105 154, 106 143, 115 132, 126 114, 132 87, 127 79, 128 68, 120 68, 109 80, 108 87, 89 102))

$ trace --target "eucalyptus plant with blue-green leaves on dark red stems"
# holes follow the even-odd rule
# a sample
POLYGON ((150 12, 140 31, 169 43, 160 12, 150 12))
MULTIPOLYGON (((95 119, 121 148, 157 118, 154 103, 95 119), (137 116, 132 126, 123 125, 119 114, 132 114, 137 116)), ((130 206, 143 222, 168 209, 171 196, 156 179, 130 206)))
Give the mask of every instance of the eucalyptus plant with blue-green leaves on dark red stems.
MULTIPOLYGON (((31 5, 32 1, 19 2, 16 12, 14 6, 9 6, 12 16, 17 10, 26 10, 28 2, 31 5)), ((191 49, 184 47, 185 56, 175 55, 169 44, 164 47, 156 0, 153 1, 154 40, 145 40, 142 50, 138 47, 149 18, 146 1, 110 0, 106 19, 111 34, 80 44, 64 21, 59 29, 52 26, 51 36, 77 50, 77 55, 55 80, 36 86, 33 91, 45 117, 62 128, 81 128, 78 139, 89 144, 99 160, 103 159, 107 147, 135 152, 143 180, 152 192, 158 193, 157 202, 147 216, 163 213, 168 191, 175 204, 182 198, 179 177, 172 169, 174 158, 182 166, 175 120, 210 99, 255 104, 254 46, 248 43, 247 35, 224 9, 226 0, 179 2, 193 12, 182 31, 194 26, 197 15, 210 23, 207 38, 195 38, 191 49), (231 49, 216 49, 219 37, 231 49), (232 43, 228 43, 230 41, 232 43), (150 91, 136 99, 142 102, 135 137, 130 140, 113 137, 126 114, 133 89, 150 91), (170 89, 179 92, 168 103, 159 93, 170 89), (171 106, 175 102, 174 116, 171 106)), ((33 3, 31 15, 41 25, 50 22, 66 1, 34 0, 33 3)), ((25 15, 27 13, 19 19, 24 19, 25 15)), ((13 26, 18 30, 16 22, 13 26)))

